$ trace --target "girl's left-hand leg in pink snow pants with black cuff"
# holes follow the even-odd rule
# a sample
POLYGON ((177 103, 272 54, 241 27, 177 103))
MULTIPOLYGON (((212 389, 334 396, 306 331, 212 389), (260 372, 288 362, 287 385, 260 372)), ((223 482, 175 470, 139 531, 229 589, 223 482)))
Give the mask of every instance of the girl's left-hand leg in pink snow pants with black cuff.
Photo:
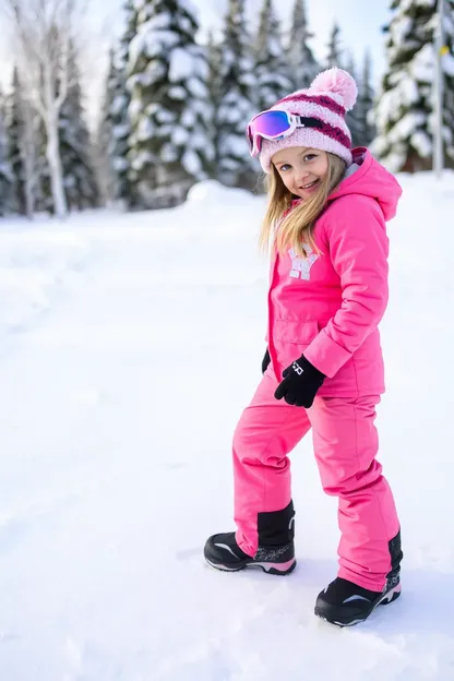
POLYGON ((294 537, 289 452, 310 429, 306 409, 277 401, 266 371, 234 435, 236 540, 248 555, 294 537))

